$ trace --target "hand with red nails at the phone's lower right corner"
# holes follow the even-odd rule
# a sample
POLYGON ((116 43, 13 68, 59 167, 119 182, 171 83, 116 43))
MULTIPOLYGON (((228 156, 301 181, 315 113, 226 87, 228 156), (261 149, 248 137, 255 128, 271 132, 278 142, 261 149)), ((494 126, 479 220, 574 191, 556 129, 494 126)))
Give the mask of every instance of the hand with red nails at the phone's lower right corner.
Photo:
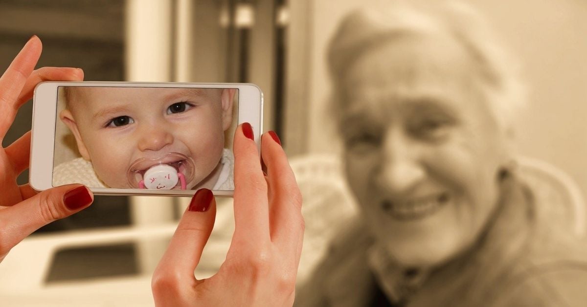
POLYGON ((304 222, 294 173, 273 132, 261 139, 266 176, 250 124, 234 137, 235 231, 227 258, 210 278, 194 270, 216 214, 210 190, 201 189, 184 212, 153 275, 157 306, 291 306, 294 303, 304 222))

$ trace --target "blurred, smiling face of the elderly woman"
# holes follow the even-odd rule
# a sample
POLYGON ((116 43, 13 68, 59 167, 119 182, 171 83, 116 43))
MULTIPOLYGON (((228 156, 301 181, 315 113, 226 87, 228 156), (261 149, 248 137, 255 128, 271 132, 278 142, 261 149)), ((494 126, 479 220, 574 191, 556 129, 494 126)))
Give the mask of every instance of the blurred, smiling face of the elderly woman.
POLYGON ((350 187, 404 265, 470 247, 498 201, 505 140, 473 66, 456 41, 413 36, 366 52, 342 82, 350 187))

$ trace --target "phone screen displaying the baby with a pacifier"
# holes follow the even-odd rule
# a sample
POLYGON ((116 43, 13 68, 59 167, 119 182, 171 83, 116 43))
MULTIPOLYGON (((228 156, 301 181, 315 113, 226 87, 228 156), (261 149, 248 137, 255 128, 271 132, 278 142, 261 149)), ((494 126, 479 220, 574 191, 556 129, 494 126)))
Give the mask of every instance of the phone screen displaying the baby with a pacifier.
POLYGON ((234 190, 237 88, 59 86, 53 186, 234 190))

